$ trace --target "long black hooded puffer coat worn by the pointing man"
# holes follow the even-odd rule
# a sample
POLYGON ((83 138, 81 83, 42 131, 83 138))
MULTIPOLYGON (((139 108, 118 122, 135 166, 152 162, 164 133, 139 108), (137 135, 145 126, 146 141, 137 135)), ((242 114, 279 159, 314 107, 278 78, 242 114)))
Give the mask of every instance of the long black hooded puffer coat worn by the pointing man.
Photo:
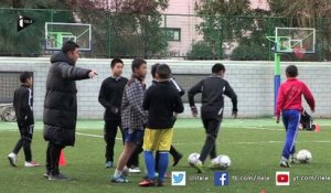
POLYGON ((44 100, 44 139, 60 146, 74 146, 77 120, 75 81, 87 79, 90 69, 76 67, 63 52, 51 57, 44 100))

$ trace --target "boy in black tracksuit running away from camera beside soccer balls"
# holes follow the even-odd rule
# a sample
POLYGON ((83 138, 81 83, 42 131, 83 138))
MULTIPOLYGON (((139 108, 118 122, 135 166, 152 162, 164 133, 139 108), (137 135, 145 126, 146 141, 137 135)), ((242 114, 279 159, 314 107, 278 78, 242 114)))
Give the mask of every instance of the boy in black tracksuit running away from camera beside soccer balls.
POLYGON ((194 117, 197 115, 197 110, 194 104, 194 95, 197 93, 202 93, 201 118, 206 132, 206 139, 201 150, 199 161, 193 165, 200 173, 203 172, 201 167, 209 154, 211 156, 211 159, 216 158, 215 141, 223 118, 223 95, 226 95, 232 99, 232 114, 234 115, 234 117, 236 117, 238 111, 237 96, 227 81, 223 79, 225 74, 224 65, 220 63, 215 64, 212 67, 212 73, 213 74, 210 77, 202 79, 189 90, 189 103, 194 117))

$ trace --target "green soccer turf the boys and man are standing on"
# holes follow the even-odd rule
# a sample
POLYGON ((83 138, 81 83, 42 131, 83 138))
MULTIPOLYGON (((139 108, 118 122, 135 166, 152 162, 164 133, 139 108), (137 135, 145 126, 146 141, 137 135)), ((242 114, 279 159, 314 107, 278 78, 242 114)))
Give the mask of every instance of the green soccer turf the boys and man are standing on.
MULTIPOLYGON (((275 124, 274 119, 225 119, 217 138, 217 154, 227 154, 232 160, 231 168, 226 170, 229 183, 226 186, 215 186, 214 172, 217 170, 205 168, 206 172, 200 174, 186 161, 190 153, 200 152, 204 142, 205 135, 200 119, 179 119, 173 144, 184 154, 184 159, 178 167, 169 167, 168 172, 185 171, 186 185, 171 186, 171 180, 167 179, 163 187, 139 187, 142 173, 131 174, 128 178, 131 183, 128 184, 110 183, 114 169, 104 168, 102 120, 77 122, 76 146, 65 149, 67 165, 61 167, 61 171, 72 178, 66 182, 47 181, 43 178, 46 142, 42 137, 41 121, 35 125, 32 143, 33 159, 42 164, 40 168, 24 168, 22 150, 19 167, 10 167, 7 156, 17 142, 19 132, 14 122, 0 122, 0 192, 329 192, 331 124, 328 120, 314 122, 321 126, 321 132, 300 131, 297 139, 297 150, 308 149, 312 153, 312 162, 281 169, 279 160, 285 139, 281 124, 275 124), (290 185, 276 186, 276 171, 289 171, 290 185)), ((121 150, 121 141, 117 140, 116 160, 121 150)), ((207 160, 205 165, 209 164, 207 160)), ((140 168, 145 168, 142 156, 140 168)))

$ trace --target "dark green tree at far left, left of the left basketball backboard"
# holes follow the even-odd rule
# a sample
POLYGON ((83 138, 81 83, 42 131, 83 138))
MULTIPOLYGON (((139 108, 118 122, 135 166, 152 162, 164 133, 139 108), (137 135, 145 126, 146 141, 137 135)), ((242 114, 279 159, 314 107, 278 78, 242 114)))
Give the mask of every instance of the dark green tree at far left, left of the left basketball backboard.
MULTIPOLYGON (((72 21, 72 17, 56 14, 44 8, 65 8, 64 1, 23 1, 23 0, 4 0, 0 2, 0 54, 1 55, 21 55, 36 56, 44 50, 44 23, 51 21, 53 14, 63 21, 72 21), (33 9, 33 10, 31 10, 33 9), (38 9, 38 10, 36 10, 38 9), (18 32, 17 22, 19 15, 31 18, 34 23, 29 28, 18 32)), ((63 12, 62 12, 63 13, 63 12)))

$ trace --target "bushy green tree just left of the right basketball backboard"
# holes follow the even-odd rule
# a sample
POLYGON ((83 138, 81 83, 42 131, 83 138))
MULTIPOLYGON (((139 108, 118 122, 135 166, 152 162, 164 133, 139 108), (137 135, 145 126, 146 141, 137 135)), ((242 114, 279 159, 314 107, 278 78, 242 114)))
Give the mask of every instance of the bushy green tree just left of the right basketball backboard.
POLYGON ((268 11, 252 10, 249 0, 205 0, 196 4, 196 12, 204 20, 199 30, 213 47, 213 58, 226 54, 232 60, 268 57, 268 11))

